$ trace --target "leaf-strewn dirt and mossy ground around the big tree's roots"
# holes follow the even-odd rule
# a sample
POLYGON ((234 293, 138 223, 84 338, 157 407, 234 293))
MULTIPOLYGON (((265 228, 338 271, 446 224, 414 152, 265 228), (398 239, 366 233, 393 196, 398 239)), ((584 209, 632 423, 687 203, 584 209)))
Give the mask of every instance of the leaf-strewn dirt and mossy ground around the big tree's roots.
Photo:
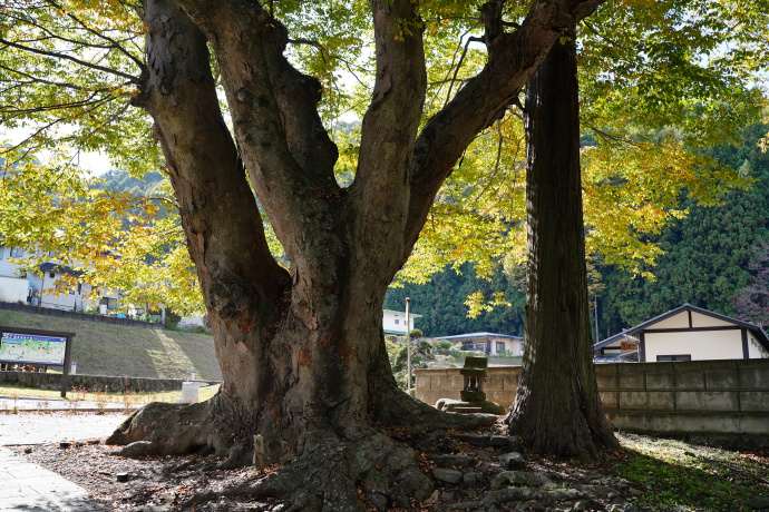
MULTIPOLYGON (((558 461, 524 455, 520 471, 504 466, 505 449, 490 443, 477 445, 457 432, 427 432, 420 429, 387 432, 405 445, 419 450, 425 474, 435 489, 421 502, 409 506, 384 505, 384 496, 359 488, 361 500, 370 511, 723 511, 762 510, 747 499, 769 500, 769 457, 727 452, 683 442, 619 434, 625 452, 597 464, 558 461), (465 456, 467 464, 441 465, 442 455, 465 456), (681 461, 684 461, 682 463, 681 461), (685 462, 689 461, 689 462, 685 462), (710 462, 708 462, 710 461, 710 462), (702 464, 709 465, 702 465, 702 464), (449 482, 458 475, 461 480, 449 482), (502 481, 499 479, 503 479, 502 481), (515 484, 514 479, 528 479, 515 484), (469 481, 468 481, 469 479, 469 481), (495 484, 496 481, 496 484, 495 484), (536 484, 546 481, 546 485, 536 484), (500 484, 502 482, 502 484, 500 484), (510 486, 510 483, 513 485, 510 486), (524 484, 524 485, 522 485, 524 484), (697 488, 700 485, 700 488, 697 488), (502 489, 500 489, 502 488, 502 489), (526 489, 528 488, 528 489, 526 489), (722 488, 722 489, 720 489, 722 488), (719 490, 720 489, 720 490, 719 490), (707 494, 718 491, 713 496, 707 494), (528 492, 528 498, 510 493, 528 492), (499 493, 507 498, 494 501, 499 493), (563 496, 568 494, 568 496, 563 496), (557 498, 561 494, 562 498, 557 498), (379 500, 377 508, 377 500, 379 500)), ((499 423, 477 437, 505 437, 499 423)), ((513 437, 507 437, 512 444, 513 437)), ((270 511, 290 512, 290 503, 237 495, 240 489, 264 476, 253 467, 213 469, 216 460, 201 454, 186 456, 142 457, 113 455, 118 446, 96 441, 72 442, 62 449, 58 443, 18 445, 12 450, 30 462, 55 471, 85 488, 89 498, 114 511, 270 511), (124 481, 125 480, 125 481, 124 481)), ((272 471, 280 471, 272 467, 272 471)), ((270 470, 267 470, 269 472, 270 470)))

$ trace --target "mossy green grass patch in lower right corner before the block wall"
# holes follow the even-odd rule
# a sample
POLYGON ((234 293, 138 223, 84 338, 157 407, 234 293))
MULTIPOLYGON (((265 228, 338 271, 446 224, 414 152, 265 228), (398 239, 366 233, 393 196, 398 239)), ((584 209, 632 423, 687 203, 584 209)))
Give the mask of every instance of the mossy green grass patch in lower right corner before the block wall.
POLYGON ((660 511, 750 511, 744 500, 769 494, 769 456, 683 441, 621 434, 627 449, 614 467, 645 492, 644 508, 660 511))

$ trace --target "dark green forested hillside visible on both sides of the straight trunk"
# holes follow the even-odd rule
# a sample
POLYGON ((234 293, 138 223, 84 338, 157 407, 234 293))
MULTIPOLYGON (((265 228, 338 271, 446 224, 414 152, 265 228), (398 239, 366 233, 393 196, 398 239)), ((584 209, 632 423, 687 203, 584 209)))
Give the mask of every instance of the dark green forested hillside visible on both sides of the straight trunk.
MULTIPOLYGON (((658 236, 665 254, 655 266, 648 267, 655 280, 629 275, 613 266, 596 267, 605 285, 598 295, 601 338, 683 303, 744 316, 732 301, 756 274, 748 268, 753 247, 759 240, 769 240, 769 154, 758 147, 767 131, 766 125, 750 127, 741 147, 722 146, 709 151, 756 183, 748 190, 730 191, 719 206, 704 207, 682 198, 689 215, 658 236)), ((510 285, 502 267, 490 283, 477 278, 469 266, 463 268, 461 275, 449 268, 425 285, 407 284, 391 289, 386 307, 402 311, 405 297, 411 297, 413 312, 422 315, 415 325, 426 336, 479 331, 522 335, 525 297, 510 285), (497 306, 477 318, 468 318, 464 303, 477 291, 486 296, 504 291, 512 306, 497 306)))

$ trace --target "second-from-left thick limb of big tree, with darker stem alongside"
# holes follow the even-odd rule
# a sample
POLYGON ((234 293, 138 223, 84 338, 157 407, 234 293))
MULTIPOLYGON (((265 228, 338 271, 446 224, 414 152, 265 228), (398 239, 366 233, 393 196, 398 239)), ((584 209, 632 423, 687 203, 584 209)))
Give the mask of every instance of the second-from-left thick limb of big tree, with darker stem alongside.
POLYGON ((337 146, 317 108, 321 86, 285 60, 286 30, 257 2, 179 3, 216 52, 245 168, 294 262, 293 248, 309 243, 304 220, 333 219, 341 197, 333 176, 337 146))

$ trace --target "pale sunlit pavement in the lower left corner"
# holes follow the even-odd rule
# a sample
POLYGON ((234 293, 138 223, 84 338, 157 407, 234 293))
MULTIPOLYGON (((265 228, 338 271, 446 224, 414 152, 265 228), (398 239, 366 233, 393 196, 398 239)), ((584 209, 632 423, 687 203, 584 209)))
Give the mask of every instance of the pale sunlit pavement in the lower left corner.
POLYGON ((101 439, 128 417, 124 413, 0 414, 0 511, 91 512, 108 508, 88 500, 88 492, 61 475, 27 462, 3 445, 60 443, 101 439))

